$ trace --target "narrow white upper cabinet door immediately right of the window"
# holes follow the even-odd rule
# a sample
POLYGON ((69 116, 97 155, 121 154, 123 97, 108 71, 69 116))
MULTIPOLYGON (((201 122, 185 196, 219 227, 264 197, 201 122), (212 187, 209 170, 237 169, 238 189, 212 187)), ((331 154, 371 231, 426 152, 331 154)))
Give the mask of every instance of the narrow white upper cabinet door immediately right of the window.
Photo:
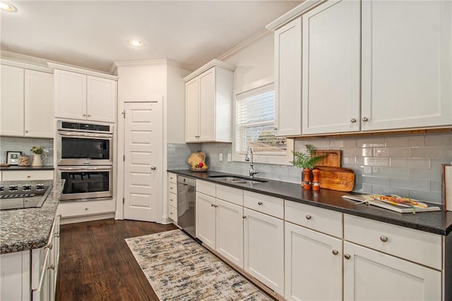
POLYGON ((302 134, 302 18, 275 31, 276 136, 302 134))

